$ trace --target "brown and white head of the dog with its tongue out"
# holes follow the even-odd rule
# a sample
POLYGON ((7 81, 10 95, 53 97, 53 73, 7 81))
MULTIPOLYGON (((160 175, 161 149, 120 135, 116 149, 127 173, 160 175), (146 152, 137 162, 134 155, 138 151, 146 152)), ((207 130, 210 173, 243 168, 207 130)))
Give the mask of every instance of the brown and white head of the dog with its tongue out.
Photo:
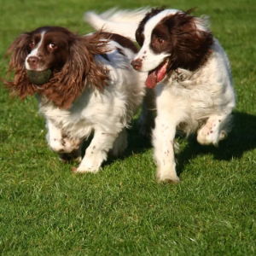
POLYGON ((138 26, 136 38, 142 48, 131 64, 148 72, 146 84, 151 88, 172 70, 200 67, 213 40, 205 20, 177 9, 152 9, 138 26))

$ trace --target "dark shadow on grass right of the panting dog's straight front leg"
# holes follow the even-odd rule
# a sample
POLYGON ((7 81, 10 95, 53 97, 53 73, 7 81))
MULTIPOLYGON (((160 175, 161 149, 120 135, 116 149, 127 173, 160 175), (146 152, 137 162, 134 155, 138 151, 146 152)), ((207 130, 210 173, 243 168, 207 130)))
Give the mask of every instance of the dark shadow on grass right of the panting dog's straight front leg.
POLYGON ((177 154, 177 173, 183 172, 183 167, 189 160, 200 154, 213 154, 216 160, 231 160, 241 158, 242 155, 256 148, 256 116, 248 113, 234 113, 234 125, 229 137, 220 142, 218 147, 202 146, 195 138, 177 154))

